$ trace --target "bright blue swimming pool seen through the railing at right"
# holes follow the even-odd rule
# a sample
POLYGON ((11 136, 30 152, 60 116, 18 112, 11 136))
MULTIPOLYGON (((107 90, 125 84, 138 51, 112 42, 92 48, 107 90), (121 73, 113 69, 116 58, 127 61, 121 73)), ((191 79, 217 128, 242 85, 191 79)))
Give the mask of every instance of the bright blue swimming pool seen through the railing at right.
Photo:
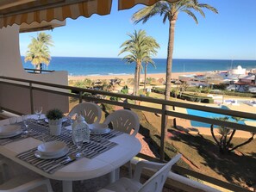
MULTIPOLYGON (((222 105, 221 108, 229 110, 229 108, 225 105, 222 105)), ((228 116, 230 121, 233 121, 231 116, 229 116, 229 115, 215 114, 215 113, 211 113, 211 112, 200 111, 200 110, 195 110, 195 109, 190 109, 190 108, 187 108, 187 113, 188 113, 188 115, 197 115, 197 116, 208 117, 208 118, 228 116)), ((246 119, 246 121, 254 121, 254 120, 246 119)), ((210 124, 204 123, 204 122, 190 121, 190 123, 191 123, 192 127, 210 127, 210 124)), ((238 123, 245 125, 244 121, 238 121, 238 123)))

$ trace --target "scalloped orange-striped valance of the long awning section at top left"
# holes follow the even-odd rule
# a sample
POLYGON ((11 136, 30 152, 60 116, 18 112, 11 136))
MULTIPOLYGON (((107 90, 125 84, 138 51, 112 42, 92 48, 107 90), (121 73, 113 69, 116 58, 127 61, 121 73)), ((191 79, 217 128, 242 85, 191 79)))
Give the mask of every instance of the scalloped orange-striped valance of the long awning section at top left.
POLYGON ((78 16, 90 17, 93 14, 108 15, 112 0, 80 0, 78 2, 49 9, 37 7, 39 10, 30 10, 13 15, 0 15, 0 28, 11 26, 15 23, 21 25, 23 22, 30 24, 31 22, 51 22, 53 19, 64 21, 66 18, 76 19, 78 16))

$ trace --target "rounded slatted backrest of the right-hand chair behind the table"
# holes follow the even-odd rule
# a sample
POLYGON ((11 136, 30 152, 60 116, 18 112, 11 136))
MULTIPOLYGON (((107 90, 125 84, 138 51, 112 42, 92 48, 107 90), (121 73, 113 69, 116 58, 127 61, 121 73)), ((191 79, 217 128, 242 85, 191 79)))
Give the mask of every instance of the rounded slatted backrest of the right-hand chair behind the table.
POLYGON ((109 114, 105 119, 104 123, 112 124, 113 129, 124 132, 131 133, 132 136, 135 136, 139 132, 140 120, 138 115, 133 111, 128 109, 121 109, 109 114))

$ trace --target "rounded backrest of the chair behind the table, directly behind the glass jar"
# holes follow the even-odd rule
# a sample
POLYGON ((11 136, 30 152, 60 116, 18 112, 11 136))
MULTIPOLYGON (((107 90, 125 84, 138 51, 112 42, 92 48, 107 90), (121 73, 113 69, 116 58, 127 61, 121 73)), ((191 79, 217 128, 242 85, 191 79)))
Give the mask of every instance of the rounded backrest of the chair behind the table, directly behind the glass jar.
POLYGON ((94 102, 81 102, 69 112, 69 116, 83 115, 84 120, 89 123, 98 123, 102 118, 102 109, 94 102))

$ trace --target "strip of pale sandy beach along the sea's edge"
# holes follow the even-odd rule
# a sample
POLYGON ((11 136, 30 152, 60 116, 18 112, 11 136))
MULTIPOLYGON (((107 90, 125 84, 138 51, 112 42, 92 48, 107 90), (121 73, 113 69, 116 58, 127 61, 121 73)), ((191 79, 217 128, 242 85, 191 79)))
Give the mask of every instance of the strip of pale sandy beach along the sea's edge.
MULTIPOLYGON (((205 74, 207 71, 195 71, 195 72, 172 72, 172 78, 173 79, 178 79, 178 76, 180 75, 190 75, 190 74, 195 74, 195 75, 202 75, 205 74)), ((109 80, 109 79, 113 79, 113 78, 122 78, 123 80, 127 80, 128 78, 134 78, 134 75, 106 75, 106 76, 68 76, 68 80, 74 80, 74 81, 79 81, 79 80, 84 80, 84 78, 90 78, 91 80, 109 80)), ((164 78, 165 79, 165 73, 151 73, 151 74, 147 74, 147 77, 152 77, 152 78, 164 78)), ((140 74, 140 78, 143 79, 144 78, 144 74, 141 73, 140 74)))

